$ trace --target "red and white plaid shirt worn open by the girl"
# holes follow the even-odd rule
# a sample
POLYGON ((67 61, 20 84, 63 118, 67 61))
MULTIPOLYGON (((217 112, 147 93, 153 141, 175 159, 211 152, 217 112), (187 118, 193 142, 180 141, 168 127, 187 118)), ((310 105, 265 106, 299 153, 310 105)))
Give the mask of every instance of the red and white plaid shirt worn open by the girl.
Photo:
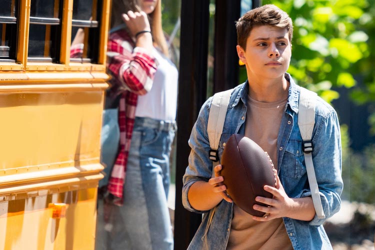
POLYGON ((138 95, 147 93, 152 86, 157 61, 142 47, 135 47, 134 41, 125 31, 119 29, 109 34, 107 45, 107 69, 113 94, 121 94, 118 108, 120 143, 113 165, 107 190, 123 203, 123 185, 130 140, 134 126, 135 107, 138 95))

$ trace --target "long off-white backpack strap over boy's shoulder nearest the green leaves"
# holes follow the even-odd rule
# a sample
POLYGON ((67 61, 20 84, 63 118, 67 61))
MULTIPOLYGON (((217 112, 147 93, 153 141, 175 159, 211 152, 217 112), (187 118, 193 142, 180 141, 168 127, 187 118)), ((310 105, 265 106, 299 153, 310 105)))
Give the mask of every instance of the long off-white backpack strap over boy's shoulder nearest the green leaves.
POLYGON ((315 101, 316 93, 300 88, 298 104, 298 127, 302 136, 304 162, 306 164, 308 183, 311 189, 312 202, 318 218, 325 218, 323 206, 321 205, 319 189, 317 187, 314 164, 312 162, 312 130, 315 124, 315 101))

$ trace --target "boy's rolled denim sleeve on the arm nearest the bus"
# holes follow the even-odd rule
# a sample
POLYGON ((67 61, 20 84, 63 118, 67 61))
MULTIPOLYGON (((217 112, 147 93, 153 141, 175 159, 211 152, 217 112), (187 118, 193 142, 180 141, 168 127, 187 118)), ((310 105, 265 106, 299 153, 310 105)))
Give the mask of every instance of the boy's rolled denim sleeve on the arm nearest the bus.
POLYGON ((208 179, 211 178, 212 161, 208 158, 210 146, 207 134, 207 122, 211 101, 212 97, 204 102, 192 128, 188 141, 191 148, 188 158, 188 166, 182 177, 182 204, 187 210, 199 213, 206 211, 194 209, 187 199, 187 193, 194 182, 198 180, 208 181, 208 179))

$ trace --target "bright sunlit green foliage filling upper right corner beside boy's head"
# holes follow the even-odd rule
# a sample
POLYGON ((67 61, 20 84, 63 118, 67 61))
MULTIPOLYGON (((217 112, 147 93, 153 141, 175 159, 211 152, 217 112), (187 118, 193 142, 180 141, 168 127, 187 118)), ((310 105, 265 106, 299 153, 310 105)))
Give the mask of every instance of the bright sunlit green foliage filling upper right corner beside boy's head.
POLYGON ((263 0, 293 20, 292 59, 288 71, 298 84, 326 101, 338 98, 334 87, 353 88, 358 103, 375 100, 375 0, 263 0), (355 80, 363 76, 364 84, 355 80), (371 88, 371 90, 370 90, 371 88), (370 91, 369 91, 370 90, 370 91))

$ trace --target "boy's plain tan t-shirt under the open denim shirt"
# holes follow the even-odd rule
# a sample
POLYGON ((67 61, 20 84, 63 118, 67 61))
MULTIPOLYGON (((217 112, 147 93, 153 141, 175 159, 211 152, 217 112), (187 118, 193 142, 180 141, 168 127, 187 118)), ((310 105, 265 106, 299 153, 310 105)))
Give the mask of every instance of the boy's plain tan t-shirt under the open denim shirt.
MULTIPOLYGON (((287 99, 260 102, 247 96, 245 136, 266 151, 277 168, 277 135, 287 99)), ((226 249, 293 249, 282 218, 256 221, 233 204, 229 240, 226 249)))

